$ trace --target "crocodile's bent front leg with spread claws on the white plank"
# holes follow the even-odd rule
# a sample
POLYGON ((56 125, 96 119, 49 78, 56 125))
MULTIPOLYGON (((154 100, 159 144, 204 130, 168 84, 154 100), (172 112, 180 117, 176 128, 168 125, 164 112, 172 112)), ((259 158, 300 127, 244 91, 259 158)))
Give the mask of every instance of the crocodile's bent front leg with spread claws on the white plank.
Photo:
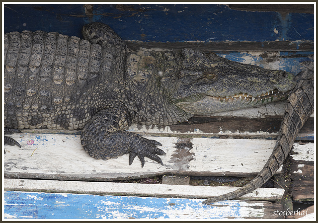
POLYGON ((158 155, 166 154, 155 140, 148 140, 137 134, 124 131, 132 119, 125 108, 109 107, 95 114, 82 130, 81 145, 96 159, 107 160, 129 154, 129 165, 138 156, 145 165, 145 156, 163 165, 158 155))

